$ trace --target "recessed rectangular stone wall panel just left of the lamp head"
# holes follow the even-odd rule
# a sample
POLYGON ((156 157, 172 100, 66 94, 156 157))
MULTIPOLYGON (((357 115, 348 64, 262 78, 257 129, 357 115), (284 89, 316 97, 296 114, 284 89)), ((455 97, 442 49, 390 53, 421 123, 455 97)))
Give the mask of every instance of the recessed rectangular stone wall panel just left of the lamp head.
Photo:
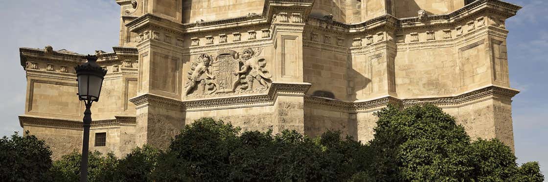
POLYGON ((57 81, 31 80, 28 111, 79 116, 82 104, 76 96, 78 85, 57 81))

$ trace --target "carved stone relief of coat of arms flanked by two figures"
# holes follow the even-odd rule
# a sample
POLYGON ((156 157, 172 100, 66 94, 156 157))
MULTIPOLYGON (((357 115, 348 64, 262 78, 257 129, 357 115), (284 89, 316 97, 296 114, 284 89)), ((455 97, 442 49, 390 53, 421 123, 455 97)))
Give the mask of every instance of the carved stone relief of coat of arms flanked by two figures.
POLYGON ((187 97, 207 97, 237 93, 262 92, 269 89, 272 75, 259 56, 262 48, 220 50, 216 56, 198 55, 191 63, 185 84, 187 97))

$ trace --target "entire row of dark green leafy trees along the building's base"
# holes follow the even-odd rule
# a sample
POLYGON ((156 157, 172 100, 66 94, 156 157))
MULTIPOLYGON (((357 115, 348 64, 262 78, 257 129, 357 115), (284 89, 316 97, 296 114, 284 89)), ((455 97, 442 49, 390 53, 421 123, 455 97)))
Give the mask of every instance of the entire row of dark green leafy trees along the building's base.
MULTIPOLYGON (((478 138, 472 142, 455 118, 433 105, 405 109, 391 105, 375 115, 379 120, 374 139, 367 144, 341 137, 338 131, 316 138, 289 130, 277 134, 241 132, 230 122, 203 118, 185 126, 165 150, 145 145, 122 158, 90 152, 88 180, 544 180, 537 162, 518 167, 512 150, 499 140, 478 138)), ((63 156, 52 166, 51 152, 36 137, 15 135, 0 142, 1 181, 79 178, 78 152, 63 156)))

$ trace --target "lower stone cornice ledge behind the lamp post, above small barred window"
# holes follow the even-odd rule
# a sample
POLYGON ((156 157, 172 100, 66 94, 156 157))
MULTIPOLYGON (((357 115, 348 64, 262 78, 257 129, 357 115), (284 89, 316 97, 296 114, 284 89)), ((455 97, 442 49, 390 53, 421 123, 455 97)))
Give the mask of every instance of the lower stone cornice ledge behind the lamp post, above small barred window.
MULTIPOLYGON (((46 126, 71 130, 83 130, 82 121, 70 119, 47 118, 43 116, 21 115, 19 125, 46 126)), ((119 126, 135 126, 135 116, 115 116, 115 119, 92 121, 92 128, 111 128, 119 126)))

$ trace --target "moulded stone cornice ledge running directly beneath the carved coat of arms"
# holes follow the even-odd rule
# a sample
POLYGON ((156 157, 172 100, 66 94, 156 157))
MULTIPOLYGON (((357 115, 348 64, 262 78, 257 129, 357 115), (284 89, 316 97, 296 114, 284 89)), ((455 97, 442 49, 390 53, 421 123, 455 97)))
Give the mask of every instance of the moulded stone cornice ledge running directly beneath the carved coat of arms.
POLYGON ((193 99, 189 101, 179 101, 177 99, 159 96, 151 93, 129 99, 136 105, 137 109, 154 105, 177 111, 197 111, 197 110, 215 110, 242 107, 257 107, 273 105, 278 96, 299 96, 305 95, 310 88, 310 83, 281 83, 274 82, 266 94, 242 95, 219 98, 193 99))

